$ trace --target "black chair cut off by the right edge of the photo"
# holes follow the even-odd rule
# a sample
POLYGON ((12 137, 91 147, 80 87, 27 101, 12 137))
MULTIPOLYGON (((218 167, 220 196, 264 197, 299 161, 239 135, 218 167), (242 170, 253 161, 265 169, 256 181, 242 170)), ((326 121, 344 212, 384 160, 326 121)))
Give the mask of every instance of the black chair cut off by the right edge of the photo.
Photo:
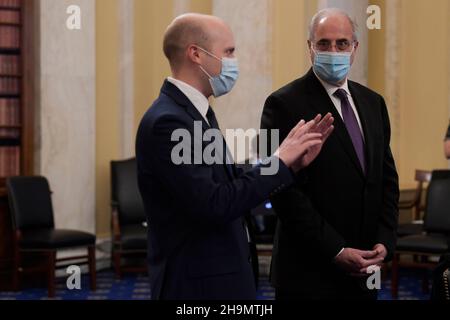
MULTIPOLYGON (((450 171, 436 170, 432 173, 427 190, 424 216, 424 233, 401 237, 397 240, 396 253, 392 260, 392 296, 398 296, 399 266, 432 269, 435 263, 429 256, 439 256, 450 252, 450 171), (400 261, 401 255, 421 256, 421 262, 400 261)), ((424 285, 426 289, 428 285, 424 285)))

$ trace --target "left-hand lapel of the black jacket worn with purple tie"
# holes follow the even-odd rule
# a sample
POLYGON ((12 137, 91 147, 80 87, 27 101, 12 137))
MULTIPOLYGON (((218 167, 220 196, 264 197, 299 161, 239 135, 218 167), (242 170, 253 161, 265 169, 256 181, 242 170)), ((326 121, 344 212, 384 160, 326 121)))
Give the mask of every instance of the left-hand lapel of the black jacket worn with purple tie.
POLYGON ((361 168, 361 164, 359 163, 358 156, 356 155, 355 148, 353 147, 352 140, 350 135, 348 134, 347 128, 345 127, 344 121, 341 118, 341 115, 337 111, 336 107, 328 96, 327 91, 320 83, 319 79, 317 79, 316 75, 312 71, 312 69, 306 75, 309 81, 309 95, 310 95, 310 103, 314 106, 314 109, 322 115, 331 112, 334 118, 334 133, 331 135, 330 139, 333 139, 333 136, 336 136, 337 139, 342 144, 343 149, 350 157, 352 163, 357 168, 358 172, 364 177, 364 173, 361 168))

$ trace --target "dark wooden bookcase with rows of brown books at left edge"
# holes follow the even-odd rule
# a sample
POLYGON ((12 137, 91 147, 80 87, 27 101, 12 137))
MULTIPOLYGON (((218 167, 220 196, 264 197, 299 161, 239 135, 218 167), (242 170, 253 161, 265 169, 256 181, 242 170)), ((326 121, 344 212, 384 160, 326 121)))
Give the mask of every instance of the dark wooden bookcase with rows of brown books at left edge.
POLYGON ((36 0, 0 0, 0 290, 11 289, 6 179, 32 174, 36 0))

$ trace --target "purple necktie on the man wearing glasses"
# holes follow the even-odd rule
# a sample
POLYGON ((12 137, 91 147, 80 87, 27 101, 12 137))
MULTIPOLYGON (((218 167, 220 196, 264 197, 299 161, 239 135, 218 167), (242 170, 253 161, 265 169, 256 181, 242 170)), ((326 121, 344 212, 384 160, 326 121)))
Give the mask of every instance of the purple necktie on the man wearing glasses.
POLYGON ((361 129, 358 125, 358 120, 356 120, 350 101, 348 101, 347 92, 345 92, 344 89, 337 89, 334 95, 341 100, 342 118, 344 119, 345 126, 347 127, 347 132, 352 139, 353 147, 355 148, 361 168, 363 172, 366 173, 364 140, 361 129))

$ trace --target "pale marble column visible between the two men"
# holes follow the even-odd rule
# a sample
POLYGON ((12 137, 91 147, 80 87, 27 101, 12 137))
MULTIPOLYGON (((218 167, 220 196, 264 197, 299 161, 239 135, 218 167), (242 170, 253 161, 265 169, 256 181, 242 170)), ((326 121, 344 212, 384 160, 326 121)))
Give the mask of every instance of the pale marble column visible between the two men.
MULTIPOLYGON (((213 102, 224 132, 226 129, 259 129, 264 101, 272 91, 270 12, 270 0, 213 1, 213 14, 224 19, 233 30, 240 66, 240 77, 233 91, 213 102)), ((232 141, 227 139, 227 143, 232 144, 232 141)), ((241 162, 249 154, 240 152, 234 157, 241 162)))

